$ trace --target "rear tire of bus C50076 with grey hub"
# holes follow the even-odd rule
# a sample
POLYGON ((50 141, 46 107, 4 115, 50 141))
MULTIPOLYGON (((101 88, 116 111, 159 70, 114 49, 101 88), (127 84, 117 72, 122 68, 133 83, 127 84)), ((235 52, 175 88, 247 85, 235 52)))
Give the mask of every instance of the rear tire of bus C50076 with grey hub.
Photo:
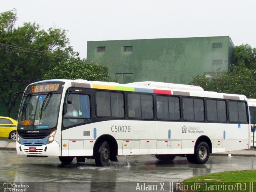
POLYGON ((194 155, 196 164, 205 164, 210 156, 210 148, 206 142, 200 142, 196 146, 196 151, 194 155))

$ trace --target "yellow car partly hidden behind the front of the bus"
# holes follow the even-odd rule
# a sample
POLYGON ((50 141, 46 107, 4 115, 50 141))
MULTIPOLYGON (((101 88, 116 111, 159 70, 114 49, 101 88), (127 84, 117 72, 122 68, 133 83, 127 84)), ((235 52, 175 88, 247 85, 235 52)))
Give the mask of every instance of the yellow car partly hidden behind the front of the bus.
POLYGON ((10 117, 0 116, 0 137, 16 140, 17 121, 10 117))

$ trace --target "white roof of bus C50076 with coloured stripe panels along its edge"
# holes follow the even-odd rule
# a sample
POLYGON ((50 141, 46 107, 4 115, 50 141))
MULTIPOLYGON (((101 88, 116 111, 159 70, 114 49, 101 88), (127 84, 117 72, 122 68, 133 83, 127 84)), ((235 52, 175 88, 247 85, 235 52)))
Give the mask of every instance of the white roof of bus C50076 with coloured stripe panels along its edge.
POLYGON ((246 96, 239 94, 226 94, 204 91, 200 86, 184 85, 184 84, 172 84, 164 82, 134 82, 129 84, 119 84, 116 82, 100 82, 100 81, 88 81, 88 80, 66 80, 66 79, 54 79, 43 80, 36 83, 46 82, 70 82, 72 86, 81 88, 93 88, 102 90, 116 90, 116 91, 130 91, 130 92, 144 92, 144 93, 156 93, 167 95, 180 95, 180 96, 195 96, 195 97, 208 97, 208 98, 220 98, 230 100, 247 100, 246 96))

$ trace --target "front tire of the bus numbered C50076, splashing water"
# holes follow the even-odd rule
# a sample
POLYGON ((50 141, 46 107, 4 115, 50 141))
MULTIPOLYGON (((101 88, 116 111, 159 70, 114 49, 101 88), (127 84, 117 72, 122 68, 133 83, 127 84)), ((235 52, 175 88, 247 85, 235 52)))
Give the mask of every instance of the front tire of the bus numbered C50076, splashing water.
POLYGON ((97 166, 107 166, 110 157, 110 150, 108 142, 104 141, 99 143, 96 147, 96 154, 95 154, 95 163, 97 166))

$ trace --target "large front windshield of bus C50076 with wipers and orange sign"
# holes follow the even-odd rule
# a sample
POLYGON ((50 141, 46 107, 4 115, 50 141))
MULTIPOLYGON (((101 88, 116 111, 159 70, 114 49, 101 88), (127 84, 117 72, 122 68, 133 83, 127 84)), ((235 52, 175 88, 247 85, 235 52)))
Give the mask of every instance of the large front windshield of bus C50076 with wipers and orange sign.
POLYGON ((22 99, 18 129, 50 129, 57 125, 60 94, 27 94, 22 99))

